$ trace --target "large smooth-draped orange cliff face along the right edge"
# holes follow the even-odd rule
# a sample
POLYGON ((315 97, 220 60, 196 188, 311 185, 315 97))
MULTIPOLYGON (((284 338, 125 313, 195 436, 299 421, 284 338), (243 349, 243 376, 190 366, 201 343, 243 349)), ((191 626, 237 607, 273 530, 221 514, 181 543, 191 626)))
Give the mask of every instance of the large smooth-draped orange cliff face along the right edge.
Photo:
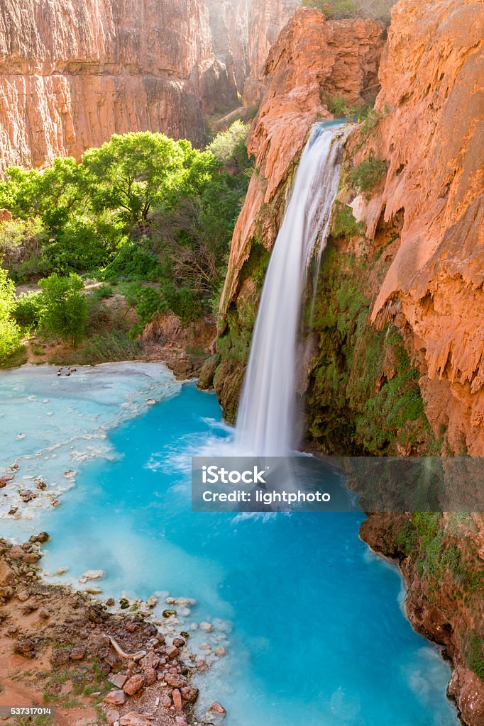
POLYGON ((379 194, 353 203, 373 237, 400 214, 373 310, 400 317, 435 435, 484 454, 484 5, 401 0, 392 13, 376 133, 355 156, 386 160, 379 194))

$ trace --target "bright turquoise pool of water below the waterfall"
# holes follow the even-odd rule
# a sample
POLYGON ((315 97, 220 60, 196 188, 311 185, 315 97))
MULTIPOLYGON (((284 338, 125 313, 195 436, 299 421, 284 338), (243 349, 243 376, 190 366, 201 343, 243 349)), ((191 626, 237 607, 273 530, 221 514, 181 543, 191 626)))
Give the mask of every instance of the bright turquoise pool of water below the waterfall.
MULTIPOLYGON (((10 401, 28 407, 34 378, 25 375, 0 378, 4 404, 20 380, 10 401)), ((456 726, 445 698, 450 670, 406 620, 398 571, 358 538, 363 515, 192 513, 190 456, 214 452, 231 432, 213 395, 169 378, 158 393, 165 385, 169 396, 157 396, 156 406, 107 428, 109 461, 81 457, 61 507, 39 509, 31 522, 4 518, 2 534, 21 539, 47 529, 44 568, 69 566, 66 577, 76 579, 102 568, 106 597, 169 591, 195 598, 180 629, 224 621, 222 631, 230 632, 219 645, 228 655, 198 685, 202 705, 221 701, 230 726, 456 726)), ((42 395, 36 383, 31 403, 42 395)), ((45 395, 55 417, 67 393, 46 388, 45 395)), ((88 415, 85 399, 82 407, 88 415)), ((11 428, 0 427, 0 442, 11 428)), ((20 440, 23 455, 27 439, 20 440)), ((1 452, 0 463, 14 458, 1 452)))

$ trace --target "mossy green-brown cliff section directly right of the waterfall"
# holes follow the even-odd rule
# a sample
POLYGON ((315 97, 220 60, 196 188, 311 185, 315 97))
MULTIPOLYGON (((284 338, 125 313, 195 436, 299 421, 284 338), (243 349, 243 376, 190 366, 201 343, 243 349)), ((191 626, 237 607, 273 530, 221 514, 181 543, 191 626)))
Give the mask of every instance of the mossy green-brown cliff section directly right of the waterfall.
POLYGON ((309 435, 339 454, 398 454, 427 446, 419 373, 395 328, 369 321, 362 257, 328 247, 313 317, 320 350, 308 393, 309 435))

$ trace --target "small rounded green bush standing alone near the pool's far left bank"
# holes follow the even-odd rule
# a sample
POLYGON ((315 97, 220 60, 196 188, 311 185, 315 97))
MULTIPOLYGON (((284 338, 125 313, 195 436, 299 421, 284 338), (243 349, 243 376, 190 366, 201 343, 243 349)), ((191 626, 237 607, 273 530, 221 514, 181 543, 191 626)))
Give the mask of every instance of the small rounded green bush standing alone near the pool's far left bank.
POLYGON ((54 273, 41 280, 39 286, 41 330, 73 346, 86 332, 88 303, 81 292, 84 282, 73 273, 68 277, 54 273))

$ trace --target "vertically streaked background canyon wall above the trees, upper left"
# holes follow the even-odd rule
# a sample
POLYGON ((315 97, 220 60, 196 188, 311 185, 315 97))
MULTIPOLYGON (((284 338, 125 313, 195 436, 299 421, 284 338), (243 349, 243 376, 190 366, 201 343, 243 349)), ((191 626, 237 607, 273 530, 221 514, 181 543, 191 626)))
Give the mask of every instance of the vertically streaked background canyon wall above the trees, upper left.
POLYGON ((1 168, 141 129, 200 146, 202 114, 234 97, 202 0, 0 5, 1 168))

